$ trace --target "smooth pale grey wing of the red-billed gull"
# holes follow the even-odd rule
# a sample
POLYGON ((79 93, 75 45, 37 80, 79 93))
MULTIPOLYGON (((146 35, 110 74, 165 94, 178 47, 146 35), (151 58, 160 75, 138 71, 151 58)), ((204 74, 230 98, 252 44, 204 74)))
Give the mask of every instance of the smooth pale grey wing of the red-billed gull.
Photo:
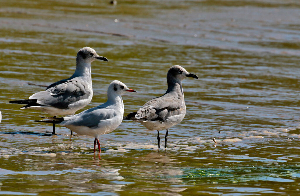
POLYGON ((93 107, 73 116, 65 116, 65 122, 61 125, 86 126, 97 128, 103 120, 112 119, 116 116, 116 110, 103 107, 93 107))

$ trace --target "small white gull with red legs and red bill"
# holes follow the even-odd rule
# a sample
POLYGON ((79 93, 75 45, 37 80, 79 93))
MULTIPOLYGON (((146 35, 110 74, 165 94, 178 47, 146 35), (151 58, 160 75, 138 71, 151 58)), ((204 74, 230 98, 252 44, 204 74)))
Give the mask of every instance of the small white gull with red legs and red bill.
POLYGON ((107 89, 107 102, 97 107, 90 108, 76 115, 65 116, 62 118, 47 118, 50 120, 36 120, 35 122, 55 123, 75 131, 79 135, 95 137, 94 152, 96 143, 99 152, 99 136, 115 130, 122 122, 124 104, 122 94, 125 92, 136 92, 127 88, 122 82, 115 80, 110 83, 107 89))

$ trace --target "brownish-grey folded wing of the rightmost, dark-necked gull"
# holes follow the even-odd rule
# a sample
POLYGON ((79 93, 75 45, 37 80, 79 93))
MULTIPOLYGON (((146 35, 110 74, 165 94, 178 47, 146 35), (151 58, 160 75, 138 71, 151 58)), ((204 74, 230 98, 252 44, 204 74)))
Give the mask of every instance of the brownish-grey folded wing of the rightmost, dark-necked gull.
POLYGON ((179 115, 185 109, 184 100, 179 97, 161 96, 148 101, 135 115, 141 120, 165 121, 170 116, 179 115))

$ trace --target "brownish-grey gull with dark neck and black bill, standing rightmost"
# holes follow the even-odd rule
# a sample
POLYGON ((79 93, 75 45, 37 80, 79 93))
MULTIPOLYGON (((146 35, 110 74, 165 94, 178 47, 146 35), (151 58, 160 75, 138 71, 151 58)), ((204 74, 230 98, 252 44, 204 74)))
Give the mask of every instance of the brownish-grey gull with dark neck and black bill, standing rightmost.
POLYGON ((174 65, 167 74, 168 89, 166 93, 148 101, 138 111, 123 118, 137 121, 149 130, 157 130, 158 148, 161 140, 159 130, 167 130, 165 136, 165 148, 167 148, 169 128, 177 125, 185 116, 186 108, 181 82, 186 77, 198 79, 196 75, 190 74, 183 67, 174 65))

